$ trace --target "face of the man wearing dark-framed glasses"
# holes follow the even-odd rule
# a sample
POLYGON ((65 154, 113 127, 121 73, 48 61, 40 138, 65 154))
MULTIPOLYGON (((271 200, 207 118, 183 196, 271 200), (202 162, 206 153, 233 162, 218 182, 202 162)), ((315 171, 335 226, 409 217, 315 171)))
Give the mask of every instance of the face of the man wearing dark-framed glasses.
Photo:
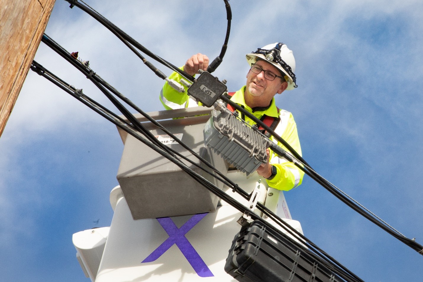
MULTIPOLYGON (((280 76, 279 70, 266 61, 257 61, 255 64, 260 66, 264 71, 273 72, 275 75, 280 76)), ((264 104, 261 106, 267 106, 270 104, 273 96, 276 93, 282 93, 287 86, 288 83, 280 77, 276 77, 275 80, 268 80, 264 78, 264 72, 260 72, 257 75, 250 70, 247 73, 247 88, 245 91, 245 95, 248 97, 245 98, 246 101, 252 99, 259 104, 264 104)))

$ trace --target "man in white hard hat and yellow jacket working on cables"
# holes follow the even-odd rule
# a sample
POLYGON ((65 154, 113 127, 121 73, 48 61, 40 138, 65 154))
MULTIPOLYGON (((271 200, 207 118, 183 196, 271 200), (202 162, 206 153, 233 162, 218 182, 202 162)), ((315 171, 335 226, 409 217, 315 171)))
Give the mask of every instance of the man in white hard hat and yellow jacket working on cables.
MULTIPOLYGON (((300 155, 297 125, 291 113, 279 110, 275 105, 276 94, 297 87, 295 84, 295 59, 292 51, 283 43, 274 43, 259 48, 256 52, 246 55, 251 66, 247 73, 247 83, 236 91, 231 101, 244 107, 255 117, 272 117, 275 122, 275 132, 291 145, 300 155)), ((182 69, 194 76, 198 70, 207 70, 209 58, 198 53, 187 60, 182 69)), ((173 72, 170 79, 179 81, 182 77, 173 72)), ((166 109, 177 109, 197 106, 197 102, 186 93, 180 93, 171 88, 168 83, 163 86, 160 100, 166 109)), ((240 114, 245 122, 250 125, 255 123, 248 117, 240 114)), ((275 139, 272 137, 272 141, 275 139)), ((283 147, 280 143, 279 146, 283 147)), ((285 147, 283 147, 286 149, 285 147)), ((297 187, 302 182, 304 172, 293 163, 280 159, 275 153, 267 149, 267 163, 257 169, 257 173, 266 178, 270 187, 288 191, 297 187)))

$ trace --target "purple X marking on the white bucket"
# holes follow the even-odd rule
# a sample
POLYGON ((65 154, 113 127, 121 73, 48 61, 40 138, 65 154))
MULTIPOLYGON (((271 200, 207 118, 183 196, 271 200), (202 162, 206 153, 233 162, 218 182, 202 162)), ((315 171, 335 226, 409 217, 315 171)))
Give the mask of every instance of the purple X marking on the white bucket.
POLYGON ((151 263, 152 261, 157 260, 162 254, 164 254, 173 244, 176 244, 181 250, 184 257, 188 260, 192 268, 200 277, 210 277, 214 276, 210 269, 204 263, 200 255, 195 251, 194 247, 191 245, 190 241, 185 237, 188 231, 192 229, 198 222, 203 219, 207 213, 200 213, 192 216, 187 222, 178 229, 176 224, 170 217, 157 218, 160 225, 168 233, 169 238, 166 239, 160 246, 157 247, 145 260, 141 263, 151 263))

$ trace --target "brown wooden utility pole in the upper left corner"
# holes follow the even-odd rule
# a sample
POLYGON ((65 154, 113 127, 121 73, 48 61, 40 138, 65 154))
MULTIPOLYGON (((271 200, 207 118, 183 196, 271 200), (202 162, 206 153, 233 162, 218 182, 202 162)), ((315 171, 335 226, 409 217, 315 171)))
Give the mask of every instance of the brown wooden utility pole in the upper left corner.
POLYGON ((0 136, 56 0, 0 0, 0 136))

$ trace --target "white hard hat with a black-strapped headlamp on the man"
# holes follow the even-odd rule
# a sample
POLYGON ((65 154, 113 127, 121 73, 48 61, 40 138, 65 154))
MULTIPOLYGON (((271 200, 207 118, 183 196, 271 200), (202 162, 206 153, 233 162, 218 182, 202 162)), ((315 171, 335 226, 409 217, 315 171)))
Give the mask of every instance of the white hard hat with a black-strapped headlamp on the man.
POLYGON ((248 64, 250 66, 257 60, 261 59, 274 65, 279 69, 280 73, 285 77, 288 82, 286 90, 292 90, 297 87, 295 83, 295 58, 292 51, 286 47, 283 43, 273 43, 258 48, 256 52, 252 52, 246 55, 248 64))

